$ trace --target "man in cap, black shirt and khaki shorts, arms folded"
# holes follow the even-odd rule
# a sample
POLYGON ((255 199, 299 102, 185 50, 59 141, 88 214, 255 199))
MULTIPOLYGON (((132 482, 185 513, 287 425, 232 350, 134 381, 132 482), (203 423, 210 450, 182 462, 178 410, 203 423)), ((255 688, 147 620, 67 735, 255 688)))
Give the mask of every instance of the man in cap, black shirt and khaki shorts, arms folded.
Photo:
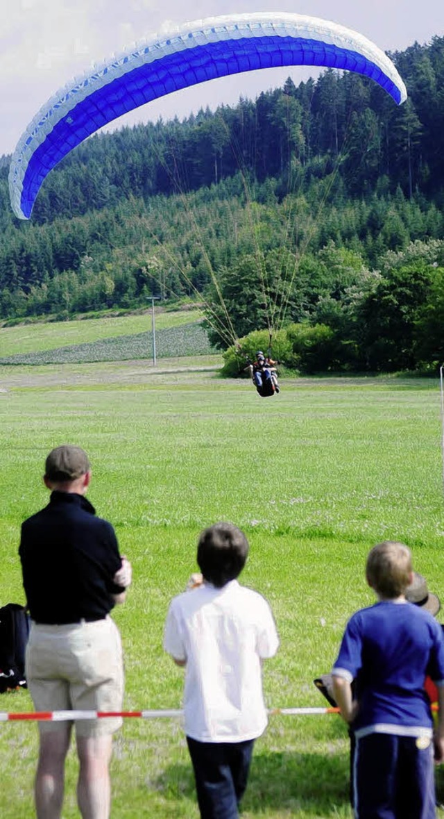
MULTIPOLYGON (((131 565, 121 558, 114 529, 95 517, 85 498, 87 455, 58 446, 43 478, 49 504, 23 523, 20 560, 32 620, 26 677, 36 711, 122 710, 120 636, 110 618, 123 603, 131 565)), ((83 819, 110 816, 109 764, 119 717, 76 721, 80 762, 78 807, 83 819)), ((38 819, 60 819, 71 722, 39 722, 35 779, 38 819)))

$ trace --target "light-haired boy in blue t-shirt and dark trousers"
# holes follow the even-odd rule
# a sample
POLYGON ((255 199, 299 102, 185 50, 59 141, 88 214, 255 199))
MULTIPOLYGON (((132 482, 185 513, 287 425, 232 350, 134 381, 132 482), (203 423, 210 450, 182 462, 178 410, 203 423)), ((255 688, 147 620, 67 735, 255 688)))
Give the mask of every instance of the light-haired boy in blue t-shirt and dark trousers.
POLYGON ((355 817, 434 819, 433 749, 437 762, 444 759, 442 628, 427 611, 406 602, 413 579, 406 545, 374 546, 366 579, 378 602, 352 616, 332 671, 334 698, 357 743, 355 817), (427 675, 438 686, 434 735, 427 675))

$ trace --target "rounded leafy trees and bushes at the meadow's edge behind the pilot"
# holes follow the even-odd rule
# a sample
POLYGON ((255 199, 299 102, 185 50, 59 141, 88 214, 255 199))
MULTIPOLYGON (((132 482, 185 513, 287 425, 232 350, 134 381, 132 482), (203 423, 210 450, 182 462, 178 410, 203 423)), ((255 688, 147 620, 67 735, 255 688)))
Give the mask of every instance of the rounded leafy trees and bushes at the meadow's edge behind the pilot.
MULTIPOLYGON (((245 360, 267 350, 280 364, 301 373, 436 373, 444 364, 444 241, 412 242, 388 251, 381 270, 369 270, 361 256, 334 243, 316 256, 298 260, 289 251, 264 259, 267 304, 261 296, 257 265, 244 257, 226 270, 220 287, 231 321, 242 336, 224 353, 226 375, 242 373, 245 360), (297 286, 289 282, 297 271, 297 286), (238 292, 247 290, 248 309, 238 292), (261 330, 273 313, 277 331, 261 330), (278 324, 279 322, 276 322, 278 324)), ((220 310, 209 315, 209 337, 218 343, 220 310)), ((224 344, 230 343, 228 333, 224 344)))

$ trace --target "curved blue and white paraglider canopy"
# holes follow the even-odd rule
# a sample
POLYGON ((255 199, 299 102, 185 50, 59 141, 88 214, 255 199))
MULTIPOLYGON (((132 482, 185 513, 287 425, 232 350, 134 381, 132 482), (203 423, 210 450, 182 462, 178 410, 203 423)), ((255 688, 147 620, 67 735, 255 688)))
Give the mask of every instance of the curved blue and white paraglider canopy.
POLYGON ((208 79, 261 68, 329 66, 357 71, 400 104, 406 87, 392 61, 352 29, 280 12, 213 17, 150 38, 61 88, 22 134, 11 160, 11 206, 29 219, 43 180, 78 143, 146 102, 208 79))

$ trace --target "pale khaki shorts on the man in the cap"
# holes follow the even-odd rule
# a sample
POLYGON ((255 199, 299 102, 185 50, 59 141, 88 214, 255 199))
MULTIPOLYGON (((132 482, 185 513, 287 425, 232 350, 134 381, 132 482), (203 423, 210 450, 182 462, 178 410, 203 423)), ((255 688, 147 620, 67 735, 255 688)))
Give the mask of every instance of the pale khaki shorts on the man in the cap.
MULTIPOLYGON (((107 617, 96 622, 47 626, 32 623, 25 659, 26 681, 36 711, 121 711, 123 656, 120 635, 107 617)), ((76 720, 78 736, 112 734, 121 717, 76 720)), ((42 732, 61 722, 39 722, 42 732)))

